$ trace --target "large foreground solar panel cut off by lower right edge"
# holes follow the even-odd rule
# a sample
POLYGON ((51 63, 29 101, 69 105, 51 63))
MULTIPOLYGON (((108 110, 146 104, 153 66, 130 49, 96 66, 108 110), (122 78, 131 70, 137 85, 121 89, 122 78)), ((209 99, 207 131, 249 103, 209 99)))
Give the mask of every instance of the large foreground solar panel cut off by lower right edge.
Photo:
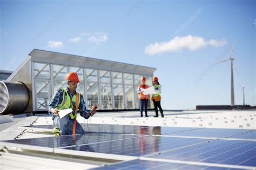
POLYGON ((255 153, 256 141, 212 140, 147 157, 213 164, 256 166, 255 153))

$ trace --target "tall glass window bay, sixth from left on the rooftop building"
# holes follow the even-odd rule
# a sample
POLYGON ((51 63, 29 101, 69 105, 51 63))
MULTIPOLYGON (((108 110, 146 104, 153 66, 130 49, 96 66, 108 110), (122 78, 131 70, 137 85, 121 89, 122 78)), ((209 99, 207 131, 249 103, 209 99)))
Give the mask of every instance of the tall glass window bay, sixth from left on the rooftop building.
POLYGON ((114 107, 124 109, 122 73, 113 72, 114 107))

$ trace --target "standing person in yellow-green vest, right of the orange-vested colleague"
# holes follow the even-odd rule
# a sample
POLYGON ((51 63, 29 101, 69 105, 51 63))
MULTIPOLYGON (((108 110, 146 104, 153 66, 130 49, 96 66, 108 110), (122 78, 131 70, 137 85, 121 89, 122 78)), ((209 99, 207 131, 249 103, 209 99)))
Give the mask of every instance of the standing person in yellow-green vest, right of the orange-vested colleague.
POLYGON ((151 100, 154 103, 154 111, 156 112, 156 116, 154 116, 155 118, 158 117, 158 108, 160 110, 161 113, 161 117, 164 117, 164 112, 163 109, 161 108, 161 85, 158 82, 158 78, 154 77, 153 78, 153 86, 154 86, 154 90, 156 90, 156 94, 152 95, 151 100), (158 108, 157 108, 158 107, 158 108))

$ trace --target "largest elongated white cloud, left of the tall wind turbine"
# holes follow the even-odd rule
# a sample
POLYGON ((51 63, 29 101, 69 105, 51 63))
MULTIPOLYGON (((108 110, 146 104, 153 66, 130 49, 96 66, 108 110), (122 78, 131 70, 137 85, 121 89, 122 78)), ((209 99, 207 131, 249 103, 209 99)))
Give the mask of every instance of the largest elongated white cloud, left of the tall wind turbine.
POLYGON ((195 51, 207 45, 218 47, 218 46, 223 46, 226 43, 227 42, 225 39, 223 40, 211 39, 210 41, 207 42, 203 37, 197 37, 197 36, 191 36, 191 35, 188 35, 185 37, 176 36, 170 41, 161 42, 161 43, 156 42, 154 44, 150 44, 145 47, 144 52, 148 55, 156 55, 157 53, 176 52, 183 49, 195 51))

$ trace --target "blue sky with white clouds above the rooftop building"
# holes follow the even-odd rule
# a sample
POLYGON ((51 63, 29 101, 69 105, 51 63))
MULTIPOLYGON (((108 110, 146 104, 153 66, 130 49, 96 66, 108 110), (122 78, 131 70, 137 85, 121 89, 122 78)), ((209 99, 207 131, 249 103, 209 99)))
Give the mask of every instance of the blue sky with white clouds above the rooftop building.
POLYGON ((0 70, 33 49, 156 67, 164 109, 255 102, 256 1, 0 1, 0 70))

